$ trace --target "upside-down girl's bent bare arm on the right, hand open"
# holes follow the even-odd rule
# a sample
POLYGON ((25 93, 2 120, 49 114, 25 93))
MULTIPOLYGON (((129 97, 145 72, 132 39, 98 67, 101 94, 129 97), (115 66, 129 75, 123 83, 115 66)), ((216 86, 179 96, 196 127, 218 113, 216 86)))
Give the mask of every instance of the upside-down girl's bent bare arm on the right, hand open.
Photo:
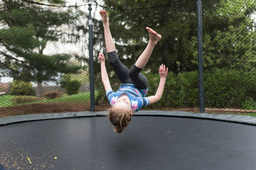
POLYGON ((159 82, 158 88, 156 90, 156 94, 154 96, 148 97, 149 104, 156 103, 157 101, 159 101, 161 99, 163 92, 164 92, 164 84, 166 81, 167 74, 168 74, 168 67, 165 68, 165 65, 161 64, 161 66, 159 67, 160 82, 159 82))

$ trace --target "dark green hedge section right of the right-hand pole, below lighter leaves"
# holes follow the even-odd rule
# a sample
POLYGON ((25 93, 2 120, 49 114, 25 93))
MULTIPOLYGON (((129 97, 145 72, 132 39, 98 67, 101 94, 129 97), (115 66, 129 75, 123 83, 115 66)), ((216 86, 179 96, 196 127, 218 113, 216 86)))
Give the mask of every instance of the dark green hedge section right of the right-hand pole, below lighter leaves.
POLYGON ((244 101, 256 100, 255 80, 256 74, 253 71, 230 69, 205 71, 205 105, 216 108, 243 108, 244 101))

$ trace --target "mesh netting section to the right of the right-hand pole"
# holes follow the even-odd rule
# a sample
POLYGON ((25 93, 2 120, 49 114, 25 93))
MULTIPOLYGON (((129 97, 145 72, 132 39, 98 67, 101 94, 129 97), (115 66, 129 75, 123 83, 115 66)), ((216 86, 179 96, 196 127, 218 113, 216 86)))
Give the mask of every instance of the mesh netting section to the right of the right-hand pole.
POLYGON ((255 1, 221 1, 215 8, 203 17, 206 108, 255 113, 255 1))

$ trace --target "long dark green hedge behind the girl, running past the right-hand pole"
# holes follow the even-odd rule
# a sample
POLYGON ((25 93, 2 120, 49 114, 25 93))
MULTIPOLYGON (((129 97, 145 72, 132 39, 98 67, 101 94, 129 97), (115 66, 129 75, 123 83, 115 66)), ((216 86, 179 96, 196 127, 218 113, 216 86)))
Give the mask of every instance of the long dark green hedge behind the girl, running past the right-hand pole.
MULTIPOLYGON (((148 94, 156 93, 159 74, 143 73, 148 78, 148 94)), ((100 77, 99 77, 100 80, 100 77)), ((230 69, 212 69, 204 71, 205 107, 207 108, 241 108, 255 110, 256 101, 255 71, 235 71, 230 69)), ((111 87, 116 90, 119 81, 111 80, 111 87), (117 83, 118 82, 118 83, 117 83)), ((103 84, 96 84, 99 90, 97 100, 106 101, 103 84)), ((160 101, 153 104, 159 108, 199 107, 198 71, 175 74, 168 73, 164 93, 160 101)))

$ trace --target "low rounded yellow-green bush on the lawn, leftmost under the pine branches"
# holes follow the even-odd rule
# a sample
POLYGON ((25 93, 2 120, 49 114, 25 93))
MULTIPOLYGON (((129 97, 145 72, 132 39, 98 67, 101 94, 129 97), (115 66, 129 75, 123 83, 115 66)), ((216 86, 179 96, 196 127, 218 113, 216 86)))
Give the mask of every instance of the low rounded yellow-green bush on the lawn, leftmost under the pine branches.
POLYGON ((24 82, 20 80, 13 80, 10 92, 12 95, 26 95, 26 96, 35 95, 35 90, 33 89, 32 84, 29 82, 24 82))

